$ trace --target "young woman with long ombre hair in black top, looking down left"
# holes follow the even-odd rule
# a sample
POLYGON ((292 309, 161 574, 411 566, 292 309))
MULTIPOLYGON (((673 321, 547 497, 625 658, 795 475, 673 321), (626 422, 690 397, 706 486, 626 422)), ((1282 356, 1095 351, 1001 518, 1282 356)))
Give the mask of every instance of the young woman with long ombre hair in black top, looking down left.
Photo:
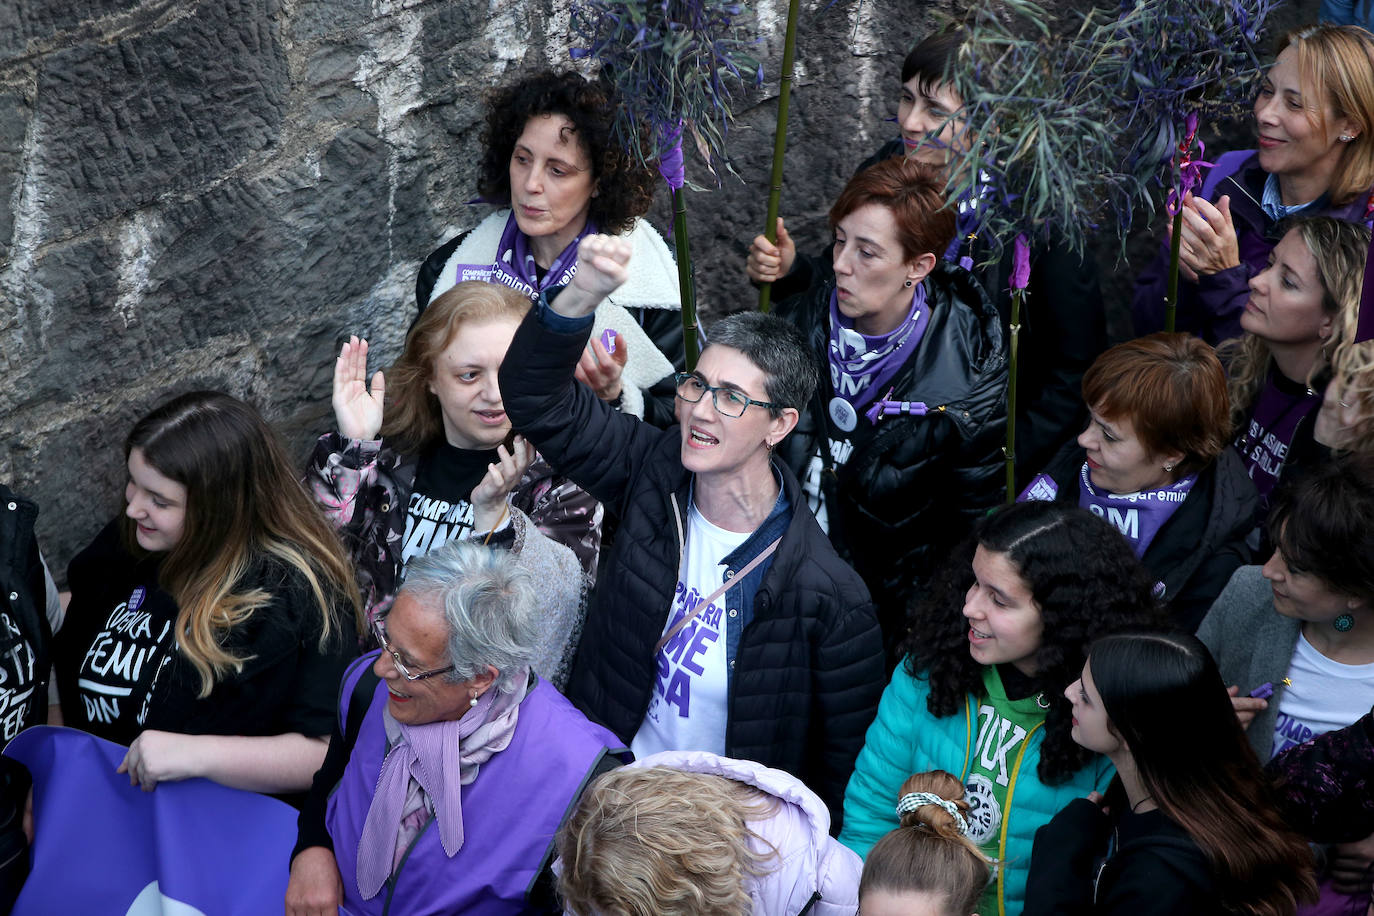
POLYGON ((67 725, 131 744, 151 791, 203 776, 300 792, 357 654, 348 559, 251 407, 191 391, 139 420, 129 483, 67 570, 56 641, 67 725))

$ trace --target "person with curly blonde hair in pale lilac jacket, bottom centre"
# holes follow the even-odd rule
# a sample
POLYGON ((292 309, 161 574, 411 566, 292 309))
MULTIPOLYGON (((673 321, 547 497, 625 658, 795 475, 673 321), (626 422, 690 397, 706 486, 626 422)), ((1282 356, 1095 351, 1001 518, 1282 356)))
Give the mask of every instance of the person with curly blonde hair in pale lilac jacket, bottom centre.
POLYGON ((665 751, 603 775, 559 829, 572 916, 851 916, 859 857, 798 779, 665 751))

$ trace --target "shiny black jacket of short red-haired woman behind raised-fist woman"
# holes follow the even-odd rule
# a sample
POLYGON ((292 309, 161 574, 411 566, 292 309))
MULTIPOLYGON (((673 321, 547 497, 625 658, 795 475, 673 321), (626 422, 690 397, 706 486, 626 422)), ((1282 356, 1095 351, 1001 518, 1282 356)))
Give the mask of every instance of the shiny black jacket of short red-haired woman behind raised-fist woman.
MULTIPOLYGON (((930 413, 881 417, 845 464, 822 475, 830 540, 868 584, 889 648, 903 636, 921 582, 1006 493, 1007 358, 998 310, 962 268, 937 264, 922 282, 930 323, 885 387, 894 389, 893 400, 925 401, 930 413)), ((811 338, 822 367, 833 288, 830 276, 778 305, 778 314, 811 338)), ((818 450, 829 461, 826 435, 844 438, 826 408, 833 396, 823 371, 816 398, 779 446, 797 474, 818 450)))

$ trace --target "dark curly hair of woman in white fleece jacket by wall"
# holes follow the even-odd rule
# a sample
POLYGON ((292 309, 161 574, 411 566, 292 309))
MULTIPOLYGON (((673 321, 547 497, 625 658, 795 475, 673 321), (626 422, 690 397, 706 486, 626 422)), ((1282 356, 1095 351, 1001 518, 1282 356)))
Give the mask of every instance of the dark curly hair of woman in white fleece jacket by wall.
POLYGON ((530 118, 561 114, 573 122, 583 152, 592 163, 598 190, 587 217, 602 232, 628 232, 654 202, 654 173, 621 148, 611 136, 616 100, 603 81, 576 73, 541 70, 519 82, 493 89, 486 102, 482 133, 482 196, 510 205, 511 152, 530 118))

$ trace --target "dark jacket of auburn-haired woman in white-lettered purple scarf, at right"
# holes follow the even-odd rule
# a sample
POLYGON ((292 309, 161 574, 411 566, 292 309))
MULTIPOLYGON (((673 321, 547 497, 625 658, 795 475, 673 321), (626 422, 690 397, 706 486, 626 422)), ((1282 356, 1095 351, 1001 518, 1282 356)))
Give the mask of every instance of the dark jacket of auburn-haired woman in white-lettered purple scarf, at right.
MULTIPOLYGON (((1044 470, 1059 493, 1057 503, 1079 504, 1079 472, 1084 450, 1069 442, 1044 470)), ((1150 541, 1140 560, 1150 575, 1164 584, 1160 599, 1169 618, 1195 633, 1212 602, 1231 581, 1231 573, 1250 562, 1245 538, 1254 527, 1260 494, 1245 472, 1235 449, 1198 474, 1183 505, 1175 509, 1150 541)))

